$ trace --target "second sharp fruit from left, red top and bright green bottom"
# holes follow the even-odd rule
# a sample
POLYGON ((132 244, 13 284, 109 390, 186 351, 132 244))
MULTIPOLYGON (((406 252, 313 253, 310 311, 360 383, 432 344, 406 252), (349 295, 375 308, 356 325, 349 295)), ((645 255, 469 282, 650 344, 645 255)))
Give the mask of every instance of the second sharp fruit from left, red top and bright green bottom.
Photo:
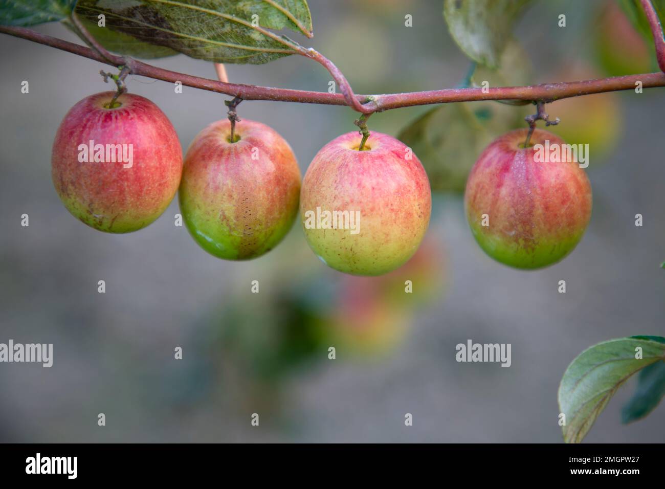
POLYGON ((185 156, 178 198, 196 242, 223 259, 251 259, 275 247, 298 212, 300 170, 289 143, 252 120, 213 122, 185 156))

